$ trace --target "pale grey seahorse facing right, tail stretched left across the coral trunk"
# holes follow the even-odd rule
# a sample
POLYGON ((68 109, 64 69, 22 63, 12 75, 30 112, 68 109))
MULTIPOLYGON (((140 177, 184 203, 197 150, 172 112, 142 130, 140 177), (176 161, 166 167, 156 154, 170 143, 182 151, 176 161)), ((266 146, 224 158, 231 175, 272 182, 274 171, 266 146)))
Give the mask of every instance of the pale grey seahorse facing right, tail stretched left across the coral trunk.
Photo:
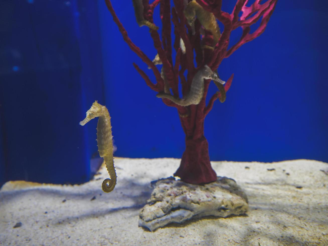
POLYGON ((173 95, 166 93, 158 93, 156 96, 159 98, 168 98, 180 106, 198 104, 204 94, 204 79, 212 79, 222 85, 225 83, 225 81, 222 81, 209 66, 205 65, 202 69, 196 72, 193 81, 191 82, 190 91, 185 98, 175 98, 173 95))

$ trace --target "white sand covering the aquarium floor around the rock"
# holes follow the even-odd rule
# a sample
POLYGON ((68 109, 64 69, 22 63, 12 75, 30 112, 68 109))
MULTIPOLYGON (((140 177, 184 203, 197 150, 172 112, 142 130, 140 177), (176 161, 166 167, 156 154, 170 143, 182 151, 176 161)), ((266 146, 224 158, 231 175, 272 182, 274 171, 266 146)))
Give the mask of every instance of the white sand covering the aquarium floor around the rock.
POLYGON ((0 245, 328 245, 328 164, 312 160, 212 162, 218 175, 245 190, 247 215, 155 232, 138 227, 150 181, 172 175, 179 162, 115 158, 117 185, 109 194, 101 190, 104 167, 83 185, 7 182, 0 191, 0 245), (13 228, 17 222, 21 227, 13 228))

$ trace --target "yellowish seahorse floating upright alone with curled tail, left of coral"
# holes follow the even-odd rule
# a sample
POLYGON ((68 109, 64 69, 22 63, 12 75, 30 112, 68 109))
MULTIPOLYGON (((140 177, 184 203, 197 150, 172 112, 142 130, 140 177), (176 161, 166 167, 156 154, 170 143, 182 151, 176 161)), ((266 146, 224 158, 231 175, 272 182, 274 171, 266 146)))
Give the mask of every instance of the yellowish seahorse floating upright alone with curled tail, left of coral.
POLYGON ((111 126, 111 116, 105 106, 102 106, 95 101, 92 103, 91 108, 87 111, 87 116, 80 122, 81 126, 84 126, 87 122, 95 117, 99 117, 97 124, 97 143, 100 157, 103 157, 106 163, 111 179, 106 178, 102 183, 102 189, 104 192, 113 191, 116 185, 116 172, 113 160, 113 136, 111 126))

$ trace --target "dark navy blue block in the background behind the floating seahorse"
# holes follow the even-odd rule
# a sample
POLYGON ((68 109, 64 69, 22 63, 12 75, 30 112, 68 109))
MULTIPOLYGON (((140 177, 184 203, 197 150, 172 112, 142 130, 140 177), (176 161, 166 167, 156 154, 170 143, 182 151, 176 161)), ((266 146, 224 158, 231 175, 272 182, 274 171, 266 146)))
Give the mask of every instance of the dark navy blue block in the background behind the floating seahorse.
POLYGON ((96 121, 78 123, 104 103, 97 5, 0 4, 1 180, 86 182, 96 121))

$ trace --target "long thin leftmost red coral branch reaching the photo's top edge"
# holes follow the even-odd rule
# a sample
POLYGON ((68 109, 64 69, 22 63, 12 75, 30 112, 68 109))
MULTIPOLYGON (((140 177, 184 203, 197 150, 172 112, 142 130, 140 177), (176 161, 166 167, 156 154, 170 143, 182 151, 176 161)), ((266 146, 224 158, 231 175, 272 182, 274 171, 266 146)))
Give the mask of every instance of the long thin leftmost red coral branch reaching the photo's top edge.
POLYGON ((125 28, 123 27, 122 23, 118 19, 117 15, 116 15, 116 13, 115 13, 115 11, 113 9, 113 6, 112 6, 111 1, 110 0, 105 0, 105 3, 107 5, 108 10, 111 12, 111 14, 113 16, 113 20, 116 23, 119 31, 121 32, 124 41, 129 45, 130 49, 134 53, 136 53, 141 58, 141 60, 144 63, 146 63, 153 70, 154 75, 155 75, 155 78, 156 78, 156 81, 159 84, 159 87, 164 88, 164 81, 163 81, 163 79, 161 77, 160 72, 158 71, 158 69, 156 68, 156 66, 154 65, 154 63, 146 56, 146 54, 144 52, 142 52, 140 50, 140 48, 138 46, 136 46, 132 42, 132 40, 129 38, 128 32, 125 30, 125 28))

